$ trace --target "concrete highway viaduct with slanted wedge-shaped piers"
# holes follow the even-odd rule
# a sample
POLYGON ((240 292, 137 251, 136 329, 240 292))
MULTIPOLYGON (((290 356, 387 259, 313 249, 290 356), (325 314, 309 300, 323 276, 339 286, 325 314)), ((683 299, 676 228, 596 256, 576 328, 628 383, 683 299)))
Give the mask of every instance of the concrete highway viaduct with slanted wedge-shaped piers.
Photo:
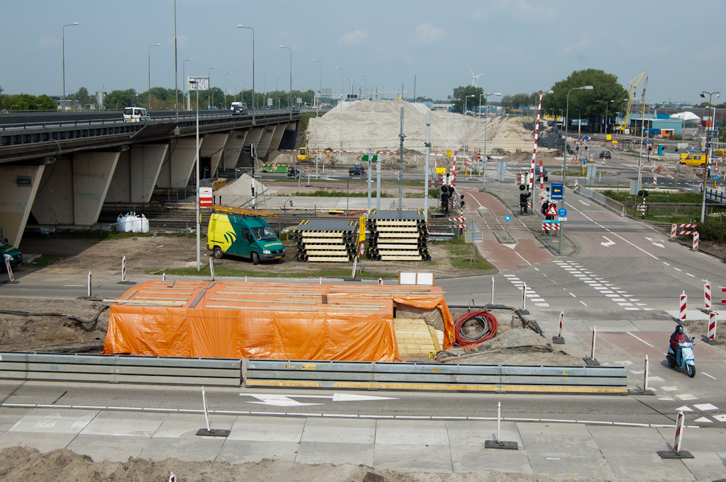
MULTIPOLYGON (((0 115, 0 235, 19 246, 30 214, 40 225, 97 223, 105 202, 148 203, 155 188, 184 188, 195 172, 194 113, 152 113, 123 122, 119 112, 0 115), (32 122, 31 122, 32 121, 32 122), (10 123, 12 122, 12 123, 10 123)), ((250 164, 293 149, 298 112, 200 114, 200 172, 250 164)))

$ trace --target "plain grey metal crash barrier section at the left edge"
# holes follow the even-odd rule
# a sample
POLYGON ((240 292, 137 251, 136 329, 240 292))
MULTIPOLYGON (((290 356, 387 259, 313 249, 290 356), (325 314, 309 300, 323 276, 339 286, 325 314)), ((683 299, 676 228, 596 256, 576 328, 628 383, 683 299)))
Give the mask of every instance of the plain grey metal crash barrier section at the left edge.
POLYGON ((242 360, 3 352, 0 353, 0 378, 240 386, 242 360))

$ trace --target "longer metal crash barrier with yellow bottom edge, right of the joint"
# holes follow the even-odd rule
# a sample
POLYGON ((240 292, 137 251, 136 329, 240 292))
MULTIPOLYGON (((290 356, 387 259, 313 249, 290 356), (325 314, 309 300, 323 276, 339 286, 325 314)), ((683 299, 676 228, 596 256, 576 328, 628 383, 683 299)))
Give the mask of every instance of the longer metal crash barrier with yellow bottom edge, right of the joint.
POLYGON ((245 386, 627 394, 624 367, 247 360, 245 386))

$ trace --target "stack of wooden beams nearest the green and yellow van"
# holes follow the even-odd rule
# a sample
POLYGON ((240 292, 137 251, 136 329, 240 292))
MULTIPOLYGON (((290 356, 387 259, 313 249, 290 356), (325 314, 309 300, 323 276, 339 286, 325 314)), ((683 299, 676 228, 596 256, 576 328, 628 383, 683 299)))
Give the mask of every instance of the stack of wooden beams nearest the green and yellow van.
POLYGON ((348 262, 356 256, 357 220, 304 220, 293 230, 297 261, 348 262))

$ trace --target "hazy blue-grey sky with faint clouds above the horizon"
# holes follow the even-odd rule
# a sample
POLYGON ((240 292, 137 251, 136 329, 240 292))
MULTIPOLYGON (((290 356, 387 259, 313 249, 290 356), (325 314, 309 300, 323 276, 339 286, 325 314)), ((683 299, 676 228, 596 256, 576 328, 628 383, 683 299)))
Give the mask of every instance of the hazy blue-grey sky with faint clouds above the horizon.
MULTIPOLYGON (((152 87, 174 88, 174 0, 0 0, 0 12, 6 94, 62 94, 63 25, 73 22, 66 94, 145 91, 149 75, 152 87)), ((645 70, 648 104, 698 103, 701 91, 726 96, 725 18, 723 0, 176 0, 178 82, 184 72, 250 88, 253 35, 241 24, 254 29, 259 92, 290 80, 317 90, 322 75, 334 94, 355 85, 390 99, 402 86, 444 100, 473 72, 485 92, 529 94, 592 68, 626 89, 645 70)))

